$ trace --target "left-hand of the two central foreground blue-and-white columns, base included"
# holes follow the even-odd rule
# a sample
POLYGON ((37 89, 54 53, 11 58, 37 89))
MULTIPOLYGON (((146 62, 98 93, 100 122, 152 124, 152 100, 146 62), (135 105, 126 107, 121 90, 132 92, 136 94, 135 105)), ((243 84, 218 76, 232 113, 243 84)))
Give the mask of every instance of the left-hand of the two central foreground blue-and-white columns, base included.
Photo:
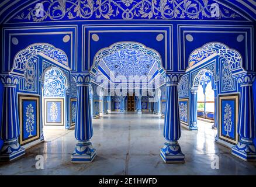
POLYGON ((75 138, 78 143, 71 155, 73 163, 88 163, 94 160, 96 150, 90 139, 93 135, 91 106, 89 101, 89 74, 76 74, 77 81, 77 112, 75 116, 75 138))

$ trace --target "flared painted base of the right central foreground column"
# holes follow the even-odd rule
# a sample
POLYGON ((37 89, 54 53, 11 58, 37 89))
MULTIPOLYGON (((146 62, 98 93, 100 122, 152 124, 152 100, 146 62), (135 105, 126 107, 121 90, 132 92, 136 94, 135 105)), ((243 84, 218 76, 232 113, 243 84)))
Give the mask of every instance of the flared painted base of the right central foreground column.
POLYGON ((160 149, 160 155, 165 163, 184 163, 185 155, 181 152, 181 147, 177 141, 168 141, 160 149))

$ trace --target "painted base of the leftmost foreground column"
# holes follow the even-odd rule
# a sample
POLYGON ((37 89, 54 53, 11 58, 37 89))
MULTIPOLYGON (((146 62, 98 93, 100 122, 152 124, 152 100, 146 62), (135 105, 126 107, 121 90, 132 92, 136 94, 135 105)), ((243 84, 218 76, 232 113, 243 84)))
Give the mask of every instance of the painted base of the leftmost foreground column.
POLYGON ((1 150, 0 161, 12 161, 25 154, 25 148, 20 147, 17 139, 4 142, 1 150))

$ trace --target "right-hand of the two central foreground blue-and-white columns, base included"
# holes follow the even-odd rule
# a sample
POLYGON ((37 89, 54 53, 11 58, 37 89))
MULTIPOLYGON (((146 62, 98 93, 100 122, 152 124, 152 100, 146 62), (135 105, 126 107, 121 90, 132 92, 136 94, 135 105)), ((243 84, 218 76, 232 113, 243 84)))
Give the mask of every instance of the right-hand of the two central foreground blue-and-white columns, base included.
POLYGON ((184 162, 185 156, 181 151, 178 140, 181 137, 179 120, 178 82, 181 74, 166 74, 167 101, 164 119, 165 144, 161 148, 161 157, 165 163, 184 162))

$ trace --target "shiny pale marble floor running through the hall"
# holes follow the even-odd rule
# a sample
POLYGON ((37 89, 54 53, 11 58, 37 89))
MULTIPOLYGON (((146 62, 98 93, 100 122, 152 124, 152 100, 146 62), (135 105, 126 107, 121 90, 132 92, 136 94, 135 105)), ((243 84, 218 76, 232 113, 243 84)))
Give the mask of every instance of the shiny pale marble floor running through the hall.
POLYGON ((198 131, 182 127, 179 140, 184 164, 164 164, 160 148, 164 119, 150 113, 112 112, 93 120, 92 143, 97 155, 90 164, 71 164, 75 147, 73 130, 46 130, 46 141, 26 150, 26 155, 0 164, 0 175, 255 175, 256 163, 230 154, 215 143, 212 124, 199 122, 198 131), (36 169, 36 155, 43 155, 44 169, 36 169), (219 158, 219 169, 212 169, 219 158))

